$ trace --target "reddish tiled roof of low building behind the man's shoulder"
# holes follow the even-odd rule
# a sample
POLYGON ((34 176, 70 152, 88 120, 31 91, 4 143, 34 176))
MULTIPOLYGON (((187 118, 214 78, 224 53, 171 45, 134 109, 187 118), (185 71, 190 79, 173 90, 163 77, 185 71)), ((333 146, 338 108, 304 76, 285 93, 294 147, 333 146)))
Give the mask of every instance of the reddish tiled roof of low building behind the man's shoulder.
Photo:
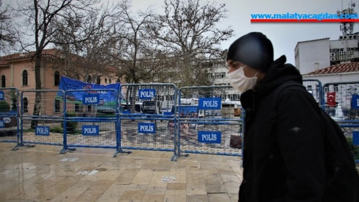
POLYGON ((348 72, 359 72, 359 62, 350 62, 344 64, 337 64, 323 69, 318 69, 303 75, 322 75, 330 73, 348 73, 348 72))

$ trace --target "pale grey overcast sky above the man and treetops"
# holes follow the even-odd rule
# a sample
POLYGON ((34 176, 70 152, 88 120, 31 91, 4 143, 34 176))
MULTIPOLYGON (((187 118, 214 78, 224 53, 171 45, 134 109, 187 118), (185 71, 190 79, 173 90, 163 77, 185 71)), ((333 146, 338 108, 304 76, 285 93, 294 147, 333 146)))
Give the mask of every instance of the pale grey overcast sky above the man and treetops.
MULTIPOLYGON (((3 0, 3 3, 16 0, 3 0)), ((22 0, 18 0, 19 2, 22 0)), ((116 2, 117 0, 104 0, 104 2, 116 2)), ((211 0, 208 0, 211 1, 211 0)), ((267 35, 274 46, 275 59, 286 55, 289 63, 295 64, 294 49, 298 42, 330 37, 338 39, 341 35, 339 23, 250 23, 250 14, 335 14, 337 10, 348 8, 351 4, 348 0, 218 0, 217 3, 226 4, 228 18, 220 27, 232 26, 236 36, 222 44, 227 49, 230 44, 241 35, 248 32, 259 31, 267 35)), ((352 1, 356 4, 355 12, 359 13, 359 0, 352 1)), ((146 10, 154 6, 157 12, 163 12, 163 0, 132 0, 133 11, 146 10)), ((354 25, 354 32, 359 31, 359 24, 354 25)), ((323 50, 328 51, 328 50, 323 50)))

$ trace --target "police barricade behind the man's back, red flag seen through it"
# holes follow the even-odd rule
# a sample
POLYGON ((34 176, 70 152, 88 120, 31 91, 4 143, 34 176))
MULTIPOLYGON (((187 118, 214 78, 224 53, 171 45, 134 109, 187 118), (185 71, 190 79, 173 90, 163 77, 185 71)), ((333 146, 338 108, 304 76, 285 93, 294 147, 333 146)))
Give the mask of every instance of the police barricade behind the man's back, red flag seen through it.
POLYGON ((359 82, 324 85, 324 109, 339 124, 359 163, 359 82))

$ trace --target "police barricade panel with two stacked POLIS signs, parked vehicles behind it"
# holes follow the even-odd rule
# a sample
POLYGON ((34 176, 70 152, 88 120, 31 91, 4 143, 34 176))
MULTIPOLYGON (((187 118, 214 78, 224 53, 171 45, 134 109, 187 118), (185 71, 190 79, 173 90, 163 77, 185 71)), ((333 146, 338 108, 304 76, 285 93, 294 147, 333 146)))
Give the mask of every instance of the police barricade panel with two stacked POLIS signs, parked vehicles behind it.
POLYGON ((141 149, 175 154, 176 86, 125 84, 120 88, 124 99, 119 114, 118 152, 141 149))

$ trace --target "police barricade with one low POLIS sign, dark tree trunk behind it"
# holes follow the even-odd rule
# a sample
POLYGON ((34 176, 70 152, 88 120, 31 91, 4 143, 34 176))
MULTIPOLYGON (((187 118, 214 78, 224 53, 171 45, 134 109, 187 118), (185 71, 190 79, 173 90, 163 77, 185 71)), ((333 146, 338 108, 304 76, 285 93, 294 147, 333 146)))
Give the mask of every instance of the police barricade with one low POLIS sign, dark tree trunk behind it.
POLYGON ((20 95, 20 141, 15 150, 33 144, 62 145, 61 90, 28 90, 20 95), (25 144, 28 143, 28 144, 25 144))

